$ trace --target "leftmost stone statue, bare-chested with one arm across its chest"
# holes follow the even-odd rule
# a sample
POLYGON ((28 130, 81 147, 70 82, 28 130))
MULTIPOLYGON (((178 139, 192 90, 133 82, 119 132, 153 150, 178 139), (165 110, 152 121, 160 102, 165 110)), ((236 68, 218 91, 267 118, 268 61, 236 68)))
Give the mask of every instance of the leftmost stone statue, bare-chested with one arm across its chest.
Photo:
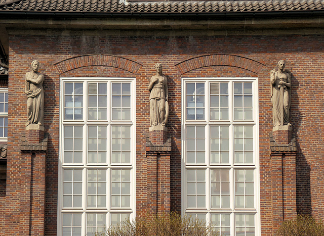
POLYGON ((32 61, 32 71, 26 73, 25 93, 27 95, 27 121, 43 126, 44 121, 44 75, 38 72, 39 62, 32 61))

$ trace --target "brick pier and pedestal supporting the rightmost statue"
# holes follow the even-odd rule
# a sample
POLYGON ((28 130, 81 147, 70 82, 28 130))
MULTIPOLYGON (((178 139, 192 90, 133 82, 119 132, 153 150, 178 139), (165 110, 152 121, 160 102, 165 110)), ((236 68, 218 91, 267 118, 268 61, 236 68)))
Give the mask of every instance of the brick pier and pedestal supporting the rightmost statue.
POLYGON ((296 137, 291 127, 273 129, 269 134, 272 192, 272 234, 284 220, 297 215, 296 209, 296 137))

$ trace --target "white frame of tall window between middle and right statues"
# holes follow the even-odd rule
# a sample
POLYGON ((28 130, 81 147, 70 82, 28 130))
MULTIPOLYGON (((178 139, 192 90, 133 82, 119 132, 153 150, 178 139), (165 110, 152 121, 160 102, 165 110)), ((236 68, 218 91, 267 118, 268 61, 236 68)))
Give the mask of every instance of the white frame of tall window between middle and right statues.
POLYGON ((181 108, 181 145, 182 145, 182 190, 181 190, 181 211, 182 214, 206 214, 206 221, 211 221, 211 214, 213 213, 230 213, 230 230, 231 235, 235 235, 235 214, 255 214, 255 235, 261 234, 260 226, 260 173, 259 173, 259 109, 258 109, 258 78, 257 77, 196 77, 196 78, 182 78, 182 108, 181 108), (205 119, 202 120, 186 120, 186 83, 187 82, 202 82, 205 83, 205 119), (228 82, 228 103, 229 103, 229 120, 213 120, 210 121, 210 82, 228 82), (253 92, 253 120, 233 120, 234 112, 234 82, 252 82, 253 92), (188 125, 205 125, 205 151, 206 161, 204 164, 186 164, 186 127, 188 125), (209 147, 209 127, 211 125, 229 125, 229 152, 230 152, 230 164, 210 164, 210 147, 209 147), (235 164, 234 165, 234 125, 253 125, 253 145, 254 145, 254 164, 235 164), (205 208, 192 208, 189 209, 187 205, 187 170, 188 169, 204 169, 206 170, 206 207, 205 208), (230 169, 230 208, 211 208, 211 193, 210 193, 210 170, 211 169, 230 169), (235 208, 235 192, 234 192, 234 170, 235 169, 253 169, 254 170, 254 208, 235 208))

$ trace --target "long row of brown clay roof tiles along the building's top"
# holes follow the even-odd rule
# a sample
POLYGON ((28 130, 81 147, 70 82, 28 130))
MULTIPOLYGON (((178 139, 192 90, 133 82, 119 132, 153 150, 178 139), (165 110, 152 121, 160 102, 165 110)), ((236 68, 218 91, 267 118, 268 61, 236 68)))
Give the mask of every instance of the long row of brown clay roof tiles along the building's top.
POLYGON ((156 1, 0 0, 0 11, 82 13, 217 13, 324 10, 324 0, 156 1))

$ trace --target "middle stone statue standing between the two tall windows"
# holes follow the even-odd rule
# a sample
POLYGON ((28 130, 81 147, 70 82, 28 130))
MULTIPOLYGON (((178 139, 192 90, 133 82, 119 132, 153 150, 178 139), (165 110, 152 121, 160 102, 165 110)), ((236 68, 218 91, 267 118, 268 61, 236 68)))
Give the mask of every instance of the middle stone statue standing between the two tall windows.
POLYGON ((162 64, 155 65, 156 74, 152 76, 147 89, 150 93, 150 126, 163 125, 168 122, 168 84, 167 77, 162 73, 162 64))

